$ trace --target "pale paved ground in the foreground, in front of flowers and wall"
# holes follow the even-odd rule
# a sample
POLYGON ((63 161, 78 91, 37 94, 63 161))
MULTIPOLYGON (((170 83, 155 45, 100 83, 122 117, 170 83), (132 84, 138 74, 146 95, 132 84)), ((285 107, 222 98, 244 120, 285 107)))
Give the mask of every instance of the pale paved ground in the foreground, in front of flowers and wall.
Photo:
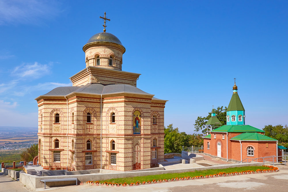
MULTIPOLYGON (((96 187, 89 185, 70 185, 66 187, 47 187, 38 191, 286 191, 288 182, 288 166, 277 165, 279 172, 247 174, 227 177, 206 178, 197 180, 173 181, 151 185, 140 185, 135 187, 96 187)), ((0 176, 1 191, 28 191, 17 181, 12 181, 7 176, 0 176), (2 185, 5 183, 5 185, 2 185)))

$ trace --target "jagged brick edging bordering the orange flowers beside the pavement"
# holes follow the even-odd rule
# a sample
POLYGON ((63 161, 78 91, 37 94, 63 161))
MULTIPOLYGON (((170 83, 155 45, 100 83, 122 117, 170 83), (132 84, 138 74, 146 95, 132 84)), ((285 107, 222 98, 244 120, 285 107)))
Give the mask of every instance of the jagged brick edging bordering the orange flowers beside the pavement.
MULTIPOLYGON (((268 167, 268 166, 267 166, 268 167)), ((270 168, 273 166, 269 166, 270 168)), ((88 181, 88 182, 81 182, 80 185, 90 185, 90 186, 107 186, 107 187, 133 187, 133 186, 138 186, 138 185, 149 185, 149 184, 155 184, 155 183, 166 183, 166 182, 171 182, 171 181, 179 181, 179 180, 194 180, 194 179, 204 179, 204 178, 212 178, 212 177, 221 177, 221 176, 235 176, 235 175, 244 175, 244 174, 255 174, 255 173, 266 173, 266 172, 278 172, 279 169, 277 167, 273 167, 270 170, 261 170, 261 171, 247 171, 247 172, 233 172, 233 173, 228 173, 228 174, 214 174, 214 175, 206 175, 206 176, 195 176, 195 177, 183 177, 183 178, 172 178, 172 179, 164 179, 164 180, 158 180, 156 181, 155 179, 152 182, 143 182, 143 183, 131 183, 129 184, 108 184, 108 183, 94 183, 93 181, 88 181)))

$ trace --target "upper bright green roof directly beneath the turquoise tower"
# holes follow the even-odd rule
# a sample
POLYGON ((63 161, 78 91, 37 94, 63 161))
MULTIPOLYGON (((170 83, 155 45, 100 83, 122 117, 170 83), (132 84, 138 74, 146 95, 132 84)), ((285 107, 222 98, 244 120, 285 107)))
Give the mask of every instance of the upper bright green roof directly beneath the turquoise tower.
POLYGON ((211 132, 265 132, 250 125, 223 125, 211 132))

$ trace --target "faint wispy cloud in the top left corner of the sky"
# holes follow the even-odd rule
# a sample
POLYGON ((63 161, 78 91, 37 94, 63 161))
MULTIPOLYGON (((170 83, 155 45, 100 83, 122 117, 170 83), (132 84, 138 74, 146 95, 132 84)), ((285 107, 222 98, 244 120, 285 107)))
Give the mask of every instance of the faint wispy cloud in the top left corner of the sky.
POLYGON ((37 24, 61 12, 60 2, 55 0, 0 0, 0 25, 37 24))

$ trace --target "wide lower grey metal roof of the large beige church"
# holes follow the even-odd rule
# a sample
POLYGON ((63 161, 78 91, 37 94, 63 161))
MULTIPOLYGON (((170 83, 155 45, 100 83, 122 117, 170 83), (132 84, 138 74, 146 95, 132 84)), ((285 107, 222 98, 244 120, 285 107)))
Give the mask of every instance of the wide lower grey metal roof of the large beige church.
POLYGON ((45 95, 65 96, 73 92, 89 93, 89 94, 111 94, 120 92, 149 94, 132 85, 125 85, 125 84, 102 85, 100 83, 92 83, 84 86, 57 87, 45 95))

